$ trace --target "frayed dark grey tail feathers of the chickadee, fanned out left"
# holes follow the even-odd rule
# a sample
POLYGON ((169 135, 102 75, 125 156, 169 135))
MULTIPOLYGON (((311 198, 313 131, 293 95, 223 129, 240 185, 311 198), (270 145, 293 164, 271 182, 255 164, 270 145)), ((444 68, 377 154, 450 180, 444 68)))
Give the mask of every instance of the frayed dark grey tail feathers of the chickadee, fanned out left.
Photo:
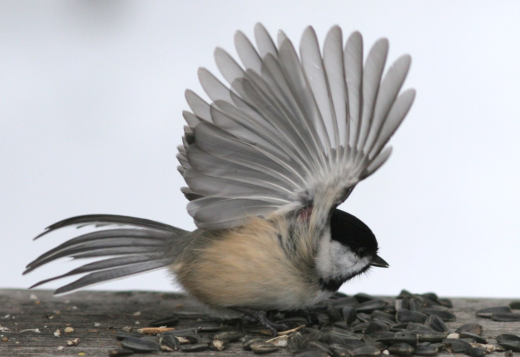
POLYGON ((30 288, 59 278, 88 273, 54 292, 55 295, 63 295, 88 286, 162 269, 175 260, 175 254, 171 250, 172 239, 186 237, 189 233, 184 229, 141 218, 89 214, 55 223, 34 239, 61 227, 75 225, 79 228, 90 224, 97 227, 108 225, 120 227, 103 229, 72 238, 29 263, 23 274, 63 257, 73 259, 110 258, 82 265, 66 274, 42 280, 30 288))

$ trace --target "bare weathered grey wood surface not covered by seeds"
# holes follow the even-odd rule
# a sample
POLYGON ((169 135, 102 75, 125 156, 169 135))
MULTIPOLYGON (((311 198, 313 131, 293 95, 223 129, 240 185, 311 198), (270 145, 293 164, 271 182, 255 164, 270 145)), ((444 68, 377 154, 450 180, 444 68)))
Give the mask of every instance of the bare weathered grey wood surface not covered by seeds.
MULTIPOLYGON (((392 302, 393 299, 387 300, 392 302)), ((453 299, 452 312, 457 315, 457 321, 448 322, 447 325, 454 329, 469 322, 481 324, 484 326, 483 336, 496 344, 493 337, 500 333, 519 334, 520 322, 493 322, 477 317, 475 311, 507 305, 509 302, 511 300, 453 299)), ((119 347, 113 336, 115 330, 124 326, 145 327, 150 321, 179 311, 201 310, 192 300, 175 293, 80 291, 64 297, 53 297, 47 290, 0 289, 0 326, 8 328, 0 331, 0 335, 3 335, 0 337, 0 356, 78 356, 83 353, 87 357, 107 356, 109 349, 119 347), (31 298, 31 295, 34 296, 31 298), (134 315, 138 312, 140 314, 134 315), (68 326, 74 331, 64 333, 68 326), (36 328, 41 333, 23 331, 36 328), (61 332, 60 337, 54 335, 57 329, 61 332), (66 341, 74 338, 80 339, 79 344, 67 346, 66 341), (59 346, 64 348, 58 350, 59 346)), ((192 321, 182 320, 179 326, 192 321)), ((168 352, 158 353, 168 355, 168 352)), ((442 352, 438 356, 450 354, 442 352)), ((241 343, 233 343, 222 352, 192 352, 191 355, 224 357, 254 354, 244 351, 241 343)), ((291 353, 281 349, 269 355, 289 356, 291 353)), ((492 355, 502 356, 503 352, 494 352, 492 355)))

